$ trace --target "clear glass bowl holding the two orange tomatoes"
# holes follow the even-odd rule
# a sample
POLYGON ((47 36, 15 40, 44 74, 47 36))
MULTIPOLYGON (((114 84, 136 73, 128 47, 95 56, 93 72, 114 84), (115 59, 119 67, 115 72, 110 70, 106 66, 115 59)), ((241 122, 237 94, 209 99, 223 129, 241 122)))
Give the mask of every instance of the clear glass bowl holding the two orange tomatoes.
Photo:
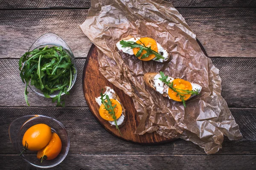
POLYGON ((67 135, 67 131, 65 127, 61 124, 61 122, 59 122, 58 120, 48 116, 43 116, 43 115, 28 115, 28 116, 20 117, 14 120, 9 126, 9 136, 10 136, 11 142, 15 150, 17 151, 17 153, 20 154, 23 151, 22 139, 23 139, 24 133, 26 132, 26 130, 29 129, 29 127, 39 123, 44 123, 48 125, 49 127, 51 127, 52 132, 55 132, 58 134, 62 143, 61 152, 55 159, 44 160, 42 161, 42 163, 36 157, 37 151, 27 150, 20 156, 29 164, 35 167, 40 167, 40 168, 54 167, 64 160, 64 158, 67 156, 67 153, 70 147, 70 139, 67 135))

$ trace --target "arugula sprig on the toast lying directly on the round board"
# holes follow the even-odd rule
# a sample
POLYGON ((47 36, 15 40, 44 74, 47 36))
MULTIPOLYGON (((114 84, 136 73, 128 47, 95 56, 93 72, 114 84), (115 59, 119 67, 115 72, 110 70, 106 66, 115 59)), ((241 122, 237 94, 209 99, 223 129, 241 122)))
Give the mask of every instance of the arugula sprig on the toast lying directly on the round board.
POLYGON ((118 129, 119 133, 122 136, 122 133, 120 132, 119 127, 116 122, 116 115, 115 115, 115 111, 114 111, 114 108, 116 107, 116 105, 112 106, 112 102, 109 99, 108 95, 103 94, 103 88, 102 88, 102 92, 100 93, 100 96, 101 96, 102 104, 104 105, 104 107, 108 111, 108 113, 112 116, 112 118, 114 119, 116 129, 118 129), (105 99, 104 99, 104 97, 105 97, 105 99), (107 101, 105 101, 105 100, 107 100, 107 101))

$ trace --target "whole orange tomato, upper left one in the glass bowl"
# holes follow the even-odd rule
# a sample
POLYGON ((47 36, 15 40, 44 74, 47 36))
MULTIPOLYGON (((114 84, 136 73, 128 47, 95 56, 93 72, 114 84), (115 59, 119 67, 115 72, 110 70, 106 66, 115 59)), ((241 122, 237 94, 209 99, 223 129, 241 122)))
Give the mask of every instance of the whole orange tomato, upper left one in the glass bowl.
POLYGON ((24 133, 22 145, 28 150, 38 151, 49 143, 51 136, 51 127, 45 124, 37 124, 24 133))

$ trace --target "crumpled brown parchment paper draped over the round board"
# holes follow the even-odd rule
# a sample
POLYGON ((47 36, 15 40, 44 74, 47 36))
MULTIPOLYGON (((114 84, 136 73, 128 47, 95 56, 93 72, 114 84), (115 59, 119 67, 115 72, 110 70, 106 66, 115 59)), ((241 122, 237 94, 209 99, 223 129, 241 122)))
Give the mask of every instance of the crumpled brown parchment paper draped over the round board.
POLYGON ((182 138, 203 147, 207 154, 221 148, 224 135, 230 140, 242 138, 221 96, 218 69, 204 55, 195 33, 171 3, 92 0, 80 27, 99 48, 100 72, 132 97, 140 118, 136 134, 156 132, 167 138, 182 138), (116 42, 128 35, 155 39, 169 51, 172 60, 165 64, 145 62, 118 51, 116 42), (160 71, 200 84, 201 95, 187 101, 186 108, 182 102, 163 97, 143 82, 145 73, 160 71))

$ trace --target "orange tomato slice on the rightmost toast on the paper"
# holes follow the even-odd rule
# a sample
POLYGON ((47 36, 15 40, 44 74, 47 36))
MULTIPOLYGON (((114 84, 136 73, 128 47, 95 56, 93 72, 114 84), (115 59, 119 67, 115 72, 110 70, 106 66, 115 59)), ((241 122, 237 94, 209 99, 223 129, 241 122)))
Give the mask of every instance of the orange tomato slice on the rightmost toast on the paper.
MULTIPOLYGON (((192 85, 190 82, 183 80, 183 79, 174 79, 173 80, 173 87, 177 88, 177 89, 181 89, 181 90, 189 90, 192 91, 192 85)), ((181 90, 177 90, 180 93, 184 93, 184 91, 181 90)), ((171 88, 169 88, 168 90, 168 95, 171 99, 181 102, 180 96, 177 96, 177 93, 175 91, 173 91, 171 88)), ((184 100, 189 99, 189 97, 191 96, 191 94, 181 94, 184 97, 184 100)))

